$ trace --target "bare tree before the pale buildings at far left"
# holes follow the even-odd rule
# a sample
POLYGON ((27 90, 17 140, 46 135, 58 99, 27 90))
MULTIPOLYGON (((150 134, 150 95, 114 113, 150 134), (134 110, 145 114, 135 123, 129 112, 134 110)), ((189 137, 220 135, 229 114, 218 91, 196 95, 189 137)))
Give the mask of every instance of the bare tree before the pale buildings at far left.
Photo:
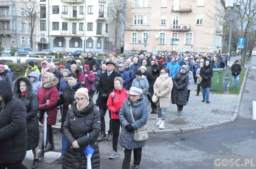
POLYGON ((25 1, 21 3, 20 8, 23 8, 24 15, 20 16, 21 21, 30 26, 31 32, 30 32, 30 47, 33 49, 33 33, 34 33, 34 27, 37 24, 39 20, 39 5, 35 0, 32 1, 25 1))

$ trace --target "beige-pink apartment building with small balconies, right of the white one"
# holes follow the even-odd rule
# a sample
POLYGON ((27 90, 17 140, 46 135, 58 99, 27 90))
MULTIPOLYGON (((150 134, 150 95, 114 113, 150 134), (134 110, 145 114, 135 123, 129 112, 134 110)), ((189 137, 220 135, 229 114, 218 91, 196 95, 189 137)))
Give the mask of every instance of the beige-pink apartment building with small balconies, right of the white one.
MULTIPOLYGON (((219 52, 222 26, 208 17, 220 0, 128 0, 124 51, 219 52), (145 45, 145 43, 147 43, 145 45)), ((217 15, 216 15, 217 17, 217 15)), ((223 20, 223 18, 218 18, 223 20)))

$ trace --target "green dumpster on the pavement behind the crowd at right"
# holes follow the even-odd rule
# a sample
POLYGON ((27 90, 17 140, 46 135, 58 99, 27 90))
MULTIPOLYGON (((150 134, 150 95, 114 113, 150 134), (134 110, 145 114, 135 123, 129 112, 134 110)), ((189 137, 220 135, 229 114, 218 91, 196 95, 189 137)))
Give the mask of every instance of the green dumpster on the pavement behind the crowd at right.
POLYGON ((214 75, 211 77, 211 90, 224 90, 225 82, 225 74, 226 69, 213 69, 214 75))

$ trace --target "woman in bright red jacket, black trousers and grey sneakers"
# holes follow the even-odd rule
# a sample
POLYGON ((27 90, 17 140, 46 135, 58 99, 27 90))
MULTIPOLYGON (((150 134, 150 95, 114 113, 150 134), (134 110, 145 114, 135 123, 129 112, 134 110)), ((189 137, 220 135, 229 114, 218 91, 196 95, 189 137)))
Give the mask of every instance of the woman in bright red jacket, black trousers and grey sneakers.
POLYGON ((111 121, 112 121, 112 147, 113 153, 108 158, 117 157, 117 144, 118 144, 118 136, 120 130, 120 121, 119 121, 119 110, 122 107, 123 102, 126 100, 126 97, 129 95, 129 91, 123 88, 123 80, 121 77, 116 77, 114 79, 114 89, 113 92, 109 94, 107 99, 107 108, 111 113, 111 121))

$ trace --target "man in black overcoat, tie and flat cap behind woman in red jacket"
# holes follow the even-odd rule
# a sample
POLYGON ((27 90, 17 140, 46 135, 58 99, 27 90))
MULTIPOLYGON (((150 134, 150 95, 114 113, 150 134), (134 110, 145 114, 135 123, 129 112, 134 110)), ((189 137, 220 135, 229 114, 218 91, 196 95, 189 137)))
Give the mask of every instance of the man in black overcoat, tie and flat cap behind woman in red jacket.
MULTIPOLYGON (((97 90, 99 91, 100 95, 100 101, 99 101, 99 112, 100 112, 100 120, 101 120, 101 130, 100 130, 100 136, 98 137, 98 141, 103 140, 104 137, 106 137, 105 131, 106 131, 106 125, 105 125, 105 114, 107 111, 107 99, 109 94, 114 89, 114 79, 115 77, 121 77, 119 73, 116 73, 114 71, 115 64, 113 62, 107 62, 107 71, 105 71, 103 74, 101 74, 100 80, 98 82, 97 90)), ((112 128, 111 128, 111 114, 109 112, 109 130, 107 141, 112 140, 112 128)))

